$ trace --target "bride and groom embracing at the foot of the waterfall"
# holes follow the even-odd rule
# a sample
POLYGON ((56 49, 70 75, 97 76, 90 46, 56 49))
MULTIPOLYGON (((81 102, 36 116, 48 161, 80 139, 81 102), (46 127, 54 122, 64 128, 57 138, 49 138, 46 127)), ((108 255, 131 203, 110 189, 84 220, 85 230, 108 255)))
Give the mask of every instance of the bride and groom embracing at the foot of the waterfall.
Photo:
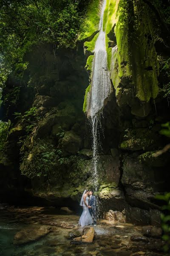
POLYGON ((96 197, 93 195, 93 190, 85 189, 80 206, 82 206, 83 212, 79 219, 79 225, 84 227, 94 224, 96 226, 96 197))

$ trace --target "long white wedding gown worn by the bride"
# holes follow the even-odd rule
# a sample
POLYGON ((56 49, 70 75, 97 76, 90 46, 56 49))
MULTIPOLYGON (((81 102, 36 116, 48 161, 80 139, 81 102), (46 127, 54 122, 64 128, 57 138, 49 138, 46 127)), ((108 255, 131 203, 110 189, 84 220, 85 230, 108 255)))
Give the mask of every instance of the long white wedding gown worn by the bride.
MULTIPOLYGON (((86 197, 86 204, 88 205, 88 196, 86 197)), ((88 225, 91 225, 93 224, 93 219, 91 218, 91 215, 90 215, 90 212, 89 212, 89 209, 88 207, 85 205, 85 202, 83 201, 83 204, 82 204, 82 215, 79 219, 79 225, 81 225, 82 227, 84 226, 88 226, 88 225)))

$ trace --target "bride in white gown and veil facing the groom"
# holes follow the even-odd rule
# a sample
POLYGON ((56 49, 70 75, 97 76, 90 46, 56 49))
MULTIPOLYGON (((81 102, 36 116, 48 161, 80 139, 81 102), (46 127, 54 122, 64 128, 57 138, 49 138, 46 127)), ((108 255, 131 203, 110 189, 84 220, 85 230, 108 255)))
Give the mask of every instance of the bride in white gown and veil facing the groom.
POLYGON ((93 219, 91 218, 89 209, 91 208, 88 206, 88 197, 89 191, 85 189, 85 191, 82 194, 82 199, 80 201, 80 206, 82 206, 82 215, 79 219, 79 225, 82 227, 93 224, 93 219))

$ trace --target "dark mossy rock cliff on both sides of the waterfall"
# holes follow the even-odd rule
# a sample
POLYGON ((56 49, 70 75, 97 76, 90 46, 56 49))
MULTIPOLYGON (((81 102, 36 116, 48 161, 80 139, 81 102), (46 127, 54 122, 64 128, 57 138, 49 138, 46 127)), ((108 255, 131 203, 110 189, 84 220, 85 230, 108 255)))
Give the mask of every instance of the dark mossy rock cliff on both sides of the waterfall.
MULTIPOLYGON (((160 134, 161 124, 169 121, 167 99, 159 93, 162 77, 166 80, 159 59, 166 58, 167 44, 146 2, 110 0, 104 14, 113 86, 101 119, 98 195, 106 218, 159 225, 155 195, 169 191, 170 180, 170 153, 154 157, 167 144, 160 134)), ((94 186, 91 126, 82 108, 90 92, 97 4, 96 18, 82 29, 76 49, 56 49, 55 56, 53 45, 40 44, 25 56, 23 81, 15 72, 8 76, 1 118, 10 119, 12 128, 0 154, 1 201, 77 209, 84 189, 94 186), (20 90, 15 104, 10 102, 14 88, 20 90)))

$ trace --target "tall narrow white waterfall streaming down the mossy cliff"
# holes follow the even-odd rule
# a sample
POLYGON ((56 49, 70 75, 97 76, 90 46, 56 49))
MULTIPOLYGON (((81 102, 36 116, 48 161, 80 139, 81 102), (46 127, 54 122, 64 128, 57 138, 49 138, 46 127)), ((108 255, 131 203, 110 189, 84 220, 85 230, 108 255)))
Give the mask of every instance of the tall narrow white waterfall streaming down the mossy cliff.
MULTIPOLYGON (((91 98, 89 101, 88 118, 91 120, 92 125, 92 137, 93 137, 93 180, 95 191, 99 187, 99 175, 98 175, 98 159, 99 159, 99 147, 100 133, 102 131, 101 116, 102 109, 105 103, 105 99, 109 96, 111 90, 110 75, 107 65, 107 52, 105 37, 106 33, 103 30, 103 16, 105 11, 106 0, 102 5, 102 12, 99 22, 99 36, 96 41, 94 49, 94 63, 93 73, 91 80, 91 98)), ((99 208, 99 207, 97 207, 99 208)))

